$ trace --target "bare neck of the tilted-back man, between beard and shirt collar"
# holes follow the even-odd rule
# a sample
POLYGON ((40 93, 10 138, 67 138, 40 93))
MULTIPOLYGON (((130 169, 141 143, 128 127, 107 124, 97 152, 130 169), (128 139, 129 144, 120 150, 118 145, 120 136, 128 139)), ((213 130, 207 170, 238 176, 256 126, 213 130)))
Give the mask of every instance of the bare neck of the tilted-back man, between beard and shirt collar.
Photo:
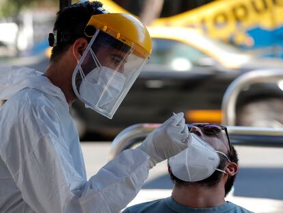
POLYGON ((175 201, 191 208, 213 208, 225 203, 224 187, 216 186, 174 186, 172 197, 175 201))

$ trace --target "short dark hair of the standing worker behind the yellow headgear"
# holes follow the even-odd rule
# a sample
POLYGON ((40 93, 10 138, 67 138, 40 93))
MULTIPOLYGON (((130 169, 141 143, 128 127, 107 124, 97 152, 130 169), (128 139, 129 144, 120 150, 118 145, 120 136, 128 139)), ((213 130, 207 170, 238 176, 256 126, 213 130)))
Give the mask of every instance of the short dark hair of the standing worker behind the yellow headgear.
POLYGON ((102 6, 103 4, 99 1, 85 1, 72 4, 57 12, 53 32, 57 31, 57 34, 59 34, 57 36, 62 37, 63 42, 57 42, 57 45, 53 47, 51 61, 58 60, 77 38, 86 38, 90 42, 90 38, 87 38, 84 34, 84 29, 91 16, 97 14, 96 9, 102 6))

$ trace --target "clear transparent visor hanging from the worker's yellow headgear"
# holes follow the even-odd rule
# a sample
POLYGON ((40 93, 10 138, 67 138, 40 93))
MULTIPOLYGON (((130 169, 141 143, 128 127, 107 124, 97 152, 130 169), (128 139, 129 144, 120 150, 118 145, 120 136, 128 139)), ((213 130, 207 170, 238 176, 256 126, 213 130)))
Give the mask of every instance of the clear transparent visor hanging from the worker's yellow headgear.
POLYGON ((72 75, 75 95, 107 118, 112 118, 120 103, 137 79, 148 56, 140 54, 134 42, 122 42, 100 29, 90 40, 87 49, 72 75))

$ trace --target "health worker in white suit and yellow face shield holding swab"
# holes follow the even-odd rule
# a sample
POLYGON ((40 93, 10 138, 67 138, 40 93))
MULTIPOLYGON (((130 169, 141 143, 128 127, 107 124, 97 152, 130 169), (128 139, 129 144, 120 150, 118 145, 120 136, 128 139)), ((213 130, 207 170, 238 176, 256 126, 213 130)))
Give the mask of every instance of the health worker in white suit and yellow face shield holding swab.
POLYGON ((7 99, 0 110, 0 212, 119 212, 150 168, 186 149, 184 115, 87 180, 70 104, 79 99, 112 118, 150 56, 150 36, 137 18, 85 1, 57 13, 49 43, 43 75, 0 68, 0 99, 7 99))

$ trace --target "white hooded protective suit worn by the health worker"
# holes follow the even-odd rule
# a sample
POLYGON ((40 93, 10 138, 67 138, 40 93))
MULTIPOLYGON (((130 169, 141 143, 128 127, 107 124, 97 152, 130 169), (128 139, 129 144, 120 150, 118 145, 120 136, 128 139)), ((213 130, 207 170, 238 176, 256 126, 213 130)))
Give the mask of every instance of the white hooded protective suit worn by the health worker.
POLYGON ((88 181, 62 90, 42 73, 0 67, 0 212, 119 212, 148 177, 149 155, 123 151, 88 181))

